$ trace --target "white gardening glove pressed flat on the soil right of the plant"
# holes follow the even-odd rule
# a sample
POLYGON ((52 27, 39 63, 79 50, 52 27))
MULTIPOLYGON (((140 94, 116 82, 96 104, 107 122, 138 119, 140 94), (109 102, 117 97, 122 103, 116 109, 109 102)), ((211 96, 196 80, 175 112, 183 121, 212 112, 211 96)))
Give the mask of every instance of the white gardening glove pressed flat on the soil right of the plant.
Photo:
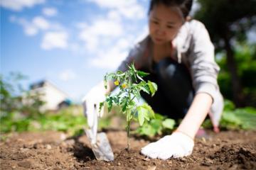
POLYGON ((157 142, 152 142, 142 148, 142 154, 156 159, 169 159, 171 157, 185 157, 192 153, 194 142, 191 137, 182 132, 174 132, 162 137, 157 142))

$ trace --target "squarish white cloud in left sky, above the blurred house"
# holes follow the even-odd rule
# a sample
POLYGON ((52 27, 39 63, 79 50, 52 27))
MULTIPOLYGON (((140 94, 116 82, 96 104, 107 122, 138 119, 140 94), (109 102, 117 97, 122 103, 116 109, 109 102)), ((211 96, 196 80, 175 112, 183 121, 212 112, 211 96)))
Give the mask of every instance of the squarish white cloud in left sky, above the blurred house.
POLYGON ((48 32, 43 36, 41 47, 44 50, 52 50, 53 48, 66 49, 68 47, 68 33, 48 32))

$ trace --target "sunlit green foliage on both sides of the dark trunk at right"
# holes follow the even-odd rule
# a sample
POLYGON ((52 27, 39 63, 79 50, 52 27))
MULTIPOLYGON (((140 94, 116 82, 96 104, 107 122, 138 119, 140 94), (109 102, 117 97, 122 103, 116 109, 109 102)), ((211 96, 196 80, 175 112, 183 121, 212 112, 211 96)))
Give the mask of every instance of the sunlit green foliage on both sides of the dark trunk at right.
MULTIPOLYGON (((238 75, 242 80, 242 92, 245 95, 246 106, 256 106, 256 45, 240 43, 235 48, 235 60, 238 64, 238 75)), ((232 100, 232 81, 227 67, 227 59, 225 55, 217 60, 220 65, 220 74, 218 76, 218 84, 220 91, 225 98, 232 100)))

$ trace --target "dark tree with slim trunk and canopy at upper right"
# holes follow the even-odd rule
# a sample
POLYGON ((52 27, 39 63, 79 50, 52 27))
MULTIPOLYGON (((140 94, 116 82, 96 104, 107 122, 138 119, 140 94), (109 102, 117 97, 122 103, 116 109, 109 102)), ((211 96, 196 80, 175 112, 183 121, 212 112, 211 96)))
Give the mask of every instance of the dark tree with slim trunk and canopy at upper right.
POLYGON ((201 4, 195 18, 202 21, 210 33, 216 52, 225 51, 231 75, 233 101, 236 106, 244 106, 242 82, 238 77, 234 45, 246 40, 247 30, 256 25, 255 0, 198 0, 201 4))

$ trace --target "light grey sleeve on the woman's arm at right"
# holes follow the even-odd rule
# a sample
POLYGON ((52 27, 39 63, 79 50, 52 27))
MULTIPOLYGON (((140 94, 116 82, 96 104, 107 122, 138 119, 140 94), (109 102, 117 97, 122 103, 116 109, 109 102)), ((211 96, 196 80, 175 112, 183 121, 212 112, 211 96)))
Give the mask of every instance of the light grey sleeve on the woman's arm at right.
POLYGON ((214 46, 203 23, 193 21, 191 23, 191 76, 196 94, 207 93, 213 98, 213 103, 218 96, 218 72, 220 67, 214 59, 214 46))

